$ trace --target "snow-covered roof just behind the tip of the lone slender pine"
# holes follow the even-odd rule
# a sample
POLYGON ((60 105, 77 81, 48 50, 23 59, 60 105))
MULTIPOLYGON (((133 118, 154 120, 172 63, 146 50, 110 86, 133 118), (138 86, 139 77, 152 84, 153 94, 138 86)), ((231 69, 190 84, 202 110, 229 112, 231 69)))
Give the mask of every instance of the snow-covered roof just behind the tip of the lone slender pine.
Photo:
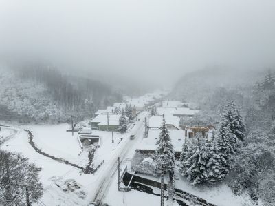
MULTIPOLYGON (((179 117, 177 116, 164 116, 166 125, 173 125, 179 127, 179 117)), ((151 116, 149 119, 150 128, 160 128, 162 127, 163 116, 151 116)))

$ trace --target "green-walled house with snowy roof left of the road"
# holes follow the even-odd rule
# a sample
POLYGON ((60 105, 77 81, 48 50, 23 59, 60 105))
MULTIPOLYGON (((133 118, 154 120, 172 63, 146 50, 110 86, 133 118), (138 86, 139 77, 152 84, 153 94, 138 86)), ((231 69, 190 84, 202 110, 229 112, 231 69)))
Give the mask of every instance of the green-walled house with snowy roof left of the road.
POLYGON ((89 124, 94 130, 118 131, 120 116, 120 114, 98 114, 89 124))

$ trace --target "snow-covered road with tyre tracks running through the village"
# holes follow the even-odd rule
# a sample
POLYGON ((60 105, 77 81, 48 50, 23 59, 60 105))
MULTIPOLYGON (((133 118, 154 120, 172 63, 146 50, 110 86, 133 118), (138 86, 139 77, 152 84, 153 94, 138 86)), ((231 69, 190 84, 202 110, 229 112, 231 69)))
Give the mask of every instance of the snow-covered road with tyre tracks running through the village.
POLYGON ((104 163, 104 166, 102 166, 98 170, 98 173, 100 173, 100 178, 98 178, 97 183, 94 184, 94 185, 97 185, 97 187, 93 188, 95 190, 92 193, 94 194, 94 196, 91 197, 92 201, 97 202, 100 205, 102 204, 102 200, 107 194, 109 187, 113 181, 113 178, 117 178, 115 176, 118 170, 118 167, 117 167, 118 162, 116 160, 118 159, 118 157, 120 157, 120 160, 124 161, 126 154, 131 150, 135 150, 133 145, 137 144, 138 141, 142 140, 144 135, 144 119, 148 118, 148 115, 149 115, 149 112, 144 111, 138 116, 140 121, 137 121, 135 123, 135 126, 131 130, 131 132, 129 132, 129 136, 131 134, 134 134, 135 139, 134 140, 130 140, 130 138, 124 139, 120 147, 117 150, 115 150, 115 152, 113 153, 113 161, 111 161, 110 163, 104 163))

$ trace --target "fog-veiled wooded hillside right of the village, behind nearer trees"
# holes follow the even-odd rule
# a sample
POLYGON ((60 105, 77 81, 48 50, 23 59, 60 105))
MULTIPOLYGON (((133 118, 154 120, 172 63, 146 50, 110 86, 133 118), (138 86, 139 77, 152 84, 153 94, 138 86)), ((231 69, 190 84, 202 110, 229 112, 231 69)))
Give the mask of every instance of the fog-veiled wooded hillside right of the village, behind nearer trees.
POLYGON ((224 97, 223 90, 238 95, 263 76, 264 72, 254 70, 230 70, 228 68, 207 68, 190 72, 177 81, 172 98, 199 103, 208 101, 209 96, 224 97), (218 93, 221 93, 218 94, 218 93))

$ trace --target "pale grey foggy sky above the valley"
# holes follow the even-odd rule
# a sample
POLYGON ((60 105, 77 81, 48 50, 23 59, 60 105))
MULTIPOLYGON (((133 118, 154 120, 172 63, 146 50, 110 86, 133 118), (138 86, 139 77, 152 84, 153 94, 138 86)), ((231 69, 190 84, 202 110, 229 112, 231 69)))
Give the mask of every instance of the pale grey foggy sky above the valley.
POLYGON ((275 1, 0 0, 0 54, 15 53, 155 82, 274 67, 275 1))

